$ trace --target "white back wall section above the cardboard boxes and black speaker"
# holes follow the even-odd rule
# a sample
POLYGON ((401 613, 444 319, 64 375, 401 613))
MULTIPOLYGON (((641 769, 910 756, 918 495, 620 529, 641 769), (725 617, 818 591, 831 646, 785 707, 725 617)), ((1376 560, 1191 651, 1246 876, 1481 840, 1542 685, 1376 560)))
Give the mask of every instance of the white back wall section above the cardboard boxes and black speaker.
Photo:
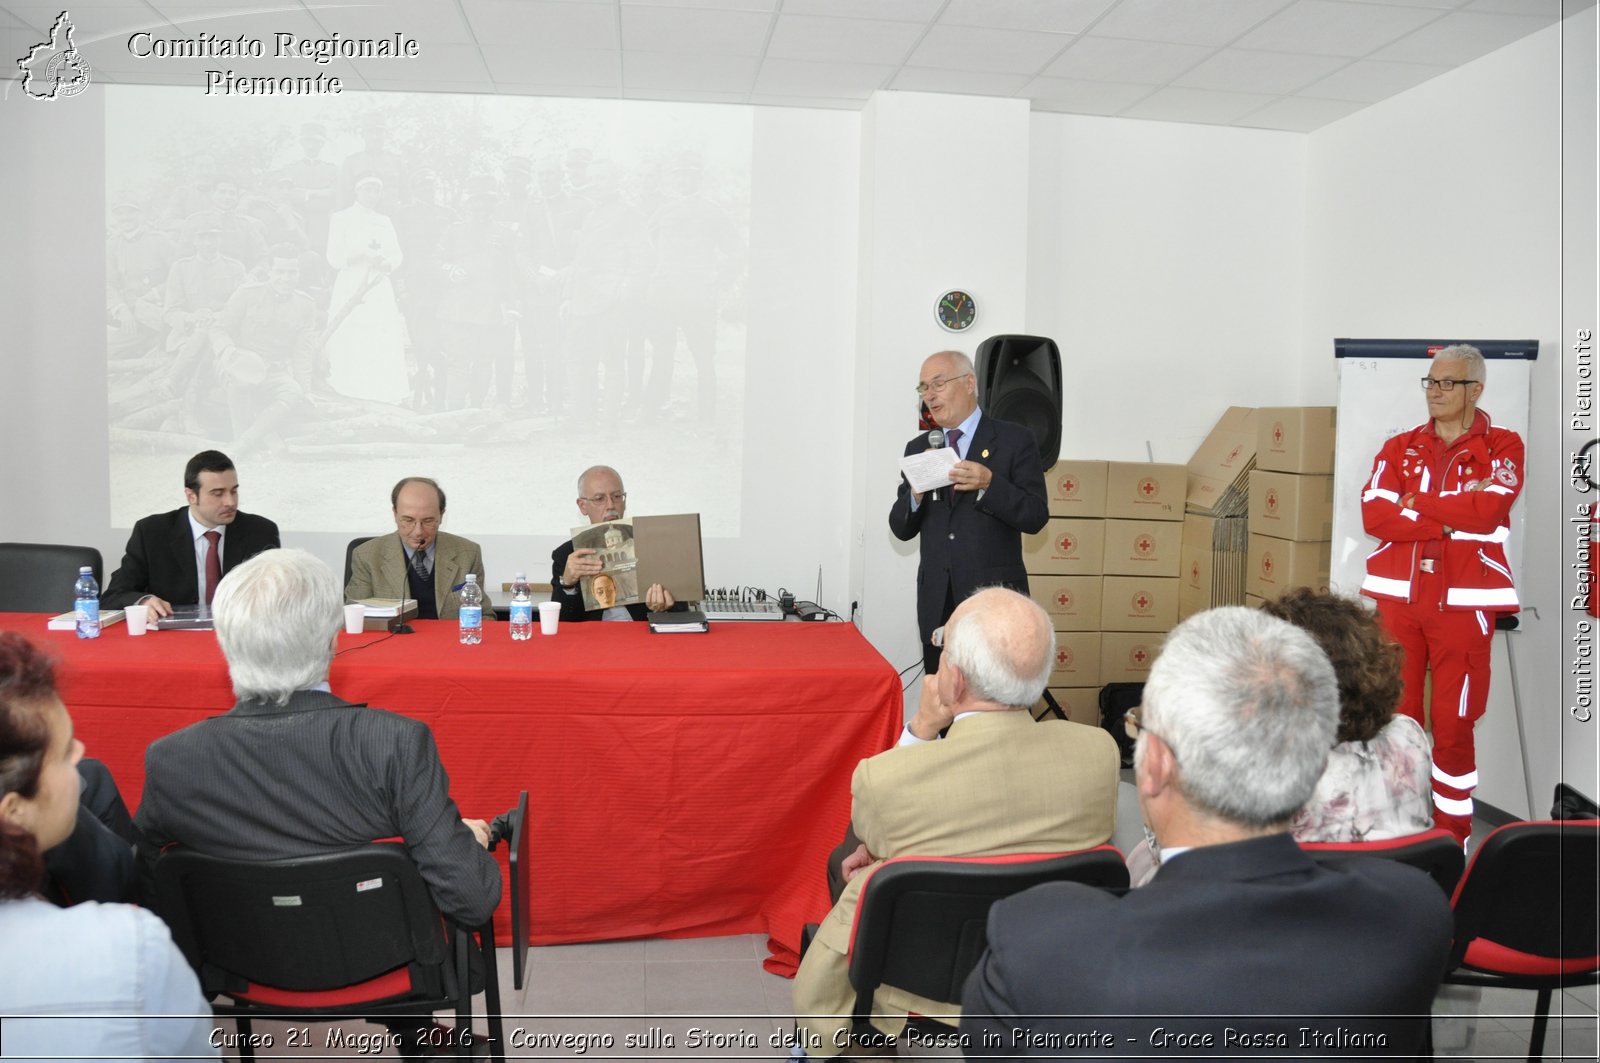
POLYGON ((1299 402, 1306 138, 1032 117, 1029 331, 1061 453, 1189 461, 1230 405, 1299 402))

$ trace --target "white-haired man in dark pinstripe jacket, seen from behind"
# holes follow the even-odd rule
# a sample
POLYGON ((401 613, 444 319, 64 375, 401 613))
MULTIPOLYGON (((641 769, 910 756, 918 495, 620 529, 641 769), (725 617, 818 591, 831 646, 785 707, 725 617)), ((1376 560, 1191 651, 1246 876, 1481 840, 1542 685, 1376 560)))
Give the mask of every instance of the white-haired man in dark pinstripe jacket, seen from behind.
POLYGON ((222 584, 213 610, 238 703, 146 751, 134 816, 146 882, 170 842, 286 860, 398 836, 438 908, 485 922, 501 897, 488 824, 461 818, 427 724, 328 688, 344 626, 328 567, 306 551, 262 554, 222 584))

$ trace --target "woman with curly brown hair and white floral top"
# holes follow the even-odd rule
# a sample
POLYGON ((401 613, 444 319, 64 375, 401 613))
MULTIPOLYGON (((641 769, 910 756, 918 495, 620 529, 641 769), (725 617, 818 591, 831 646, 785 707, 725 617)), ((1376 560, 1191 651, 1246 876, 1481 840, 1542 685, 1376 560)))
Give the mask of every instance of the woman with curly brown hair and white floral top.
POLYGON ((1400 647, 1355 599, 1296 588, 1261 608, 1306 629, 1339 679, 1338 744, 1294 816, 1294 840, 1374 842, 1430 829, 1432 741, 1395 712, 1400 647))

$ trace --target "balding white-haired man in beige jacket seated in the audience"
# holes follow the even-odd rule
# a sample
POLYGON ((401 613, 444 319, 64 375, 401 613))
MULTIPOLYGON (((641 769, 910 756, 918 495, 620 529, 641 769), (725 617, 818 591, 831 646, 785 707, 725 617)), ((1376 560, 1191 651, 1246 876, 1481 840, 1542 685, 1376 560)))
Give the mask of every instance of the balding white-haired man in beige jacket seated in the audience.
MULTIPOLYGON (((1027 709, 1054 658, 1050 616, 1016 591, 989 588, 955 607, 939 671, 888 752, 862 760, 851 781, 859 847, 845 885, 795 975, 795 1015, 810 1055, 850 1055, 850 930, 862 882, 896 856, 1059 853, 1110 837, 1117 744, 1104 730, 1035 724, 1027 709), (944 728, 944 738, 936 738, 944 728)), ((885 986, 874 1023, 898 1034, 907 1012, 952 1005, 885 986)))

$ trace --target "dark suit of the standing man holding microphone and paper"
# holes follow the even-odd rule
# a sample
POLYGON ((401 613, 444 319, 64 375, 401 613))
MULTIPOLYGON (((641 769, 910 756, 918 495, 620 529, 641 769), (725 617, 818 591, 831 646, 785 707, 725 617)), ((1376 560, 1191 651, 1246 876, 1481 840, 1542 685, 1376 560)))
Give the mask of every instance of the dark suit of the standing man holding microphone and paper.
MULTIPOLYGON (((907 455, 928 450, 928 437, 906 443, 907 455)), ((922 536, 922 565, 917 568, 917 629, 923 656, 933 629, 949 620, 946 600, 960 604, 973 591, 1005 586, 1027 594, 1022 568, 1022 533, 1034 533, 1050 520, 1045 471, 1038 443, 1021 424, 998 421, 987 413, 966 448, 966 459, 989 466, 994 479, 978 491, 942 488, 939 499, 923 495, 912 512, 910 485, 901 477, 899 495, 890 509, 890 530, 899 540, 922 536)), ((931 671, 931 669, 930 669, 931 671)))

